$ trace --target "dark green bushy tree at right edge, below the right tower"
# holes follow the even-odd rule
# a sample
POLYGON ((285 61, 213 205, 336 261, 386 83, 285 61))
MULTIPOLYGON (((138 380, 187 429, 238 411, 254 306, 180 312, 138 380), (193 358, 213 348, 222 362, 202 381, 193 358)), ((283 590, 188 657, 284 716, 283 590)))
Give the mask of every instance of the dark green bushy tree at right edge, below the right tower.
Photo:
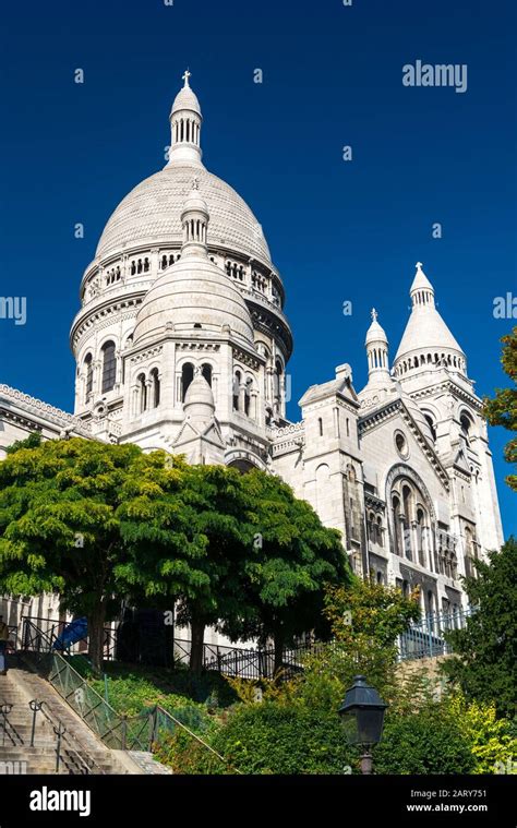
POLYGON ((510 538, 489 562, 474 562, 477 577, 466 579, 476 612, 465 629, 447 634, 455 656, 443 671, 467 699, 493 703, 500 716, 517 712, 517 542, 510 538))

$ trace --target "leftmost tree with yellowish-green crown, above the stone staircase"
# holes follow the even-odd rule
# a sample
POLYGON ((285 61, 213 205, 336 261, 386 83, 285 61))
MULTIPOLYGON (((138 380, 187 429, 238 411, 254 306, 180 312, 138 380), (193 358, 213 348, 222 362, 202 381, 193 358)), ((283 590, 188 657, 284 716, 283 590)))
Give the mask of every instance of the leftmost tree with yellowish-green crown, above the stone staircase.
POLYGON ((118 509, 135 490, 156 487, 153 477, 178 480, 165 461, 163 452, 74 437, 19 445, 0 464, 0 589, 59 592, 62 610, 88 620, 96 669, 105 622, 129 595, 118 573, 128 560, 118 509))

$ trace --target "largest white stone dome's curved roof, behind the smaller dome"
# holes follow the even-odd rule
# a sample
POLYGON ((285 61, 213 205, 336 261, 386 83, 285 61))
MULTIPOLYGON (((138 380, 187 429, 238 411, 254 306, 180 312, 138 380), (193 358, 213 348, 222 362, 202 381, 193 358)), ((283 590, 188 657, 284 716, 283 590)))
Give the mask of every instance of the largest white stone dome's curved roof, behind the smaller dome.
POLYGON ((200 161, 169 164, 137 184, 108 219, 96 256, 103 260, 137 245, 181 244, 180 217, 194 177, 211 214, 209 244, 269 263, 267 242, 250 207, 200 161))

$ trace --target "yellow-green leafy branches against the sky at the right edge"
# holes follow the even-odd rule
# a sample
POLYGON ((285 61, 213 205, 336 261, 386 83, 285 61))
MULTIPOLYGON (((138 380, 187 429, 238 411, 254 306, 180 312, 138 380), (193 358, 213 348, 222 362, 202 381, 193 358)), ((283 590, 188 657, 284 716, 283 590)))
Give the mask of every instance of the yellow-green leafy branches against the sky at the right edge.
MULTIPOLYGON (((503 353, 501 363, 504 372, 509 376, 513 386, 509 388, 496 388, 493 399, 483 399, 484 416, 491 425, 502 425, 508 431, 517 431, 517 327, 510 334, 503 336, 503 353)), ((513 437, 505 446, 504 456, 507 463, 517 463, 517 437, 513 437)), ((508 485, 517 491, 517 476, 508 475, 508 485)))

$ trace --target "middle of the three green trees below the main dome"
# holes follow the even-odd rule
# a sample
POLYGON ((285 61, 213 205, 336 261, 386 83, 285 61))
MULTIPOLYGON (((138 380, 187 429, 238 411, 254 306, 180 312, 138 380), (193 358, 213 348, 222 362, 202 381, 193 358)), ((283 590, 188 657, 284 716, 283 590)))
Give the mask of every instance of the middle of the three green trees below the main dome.
POLYGON ((178 602, 178 623, 191 627, 190 668, 199 673, 206 626, 233 629, 250 612, 249 499, 242 475, 225 466, 187 466, 180 487, 165 483, 136 488, 121 505, 130 560, 117 573, 155 607, 178 602))

